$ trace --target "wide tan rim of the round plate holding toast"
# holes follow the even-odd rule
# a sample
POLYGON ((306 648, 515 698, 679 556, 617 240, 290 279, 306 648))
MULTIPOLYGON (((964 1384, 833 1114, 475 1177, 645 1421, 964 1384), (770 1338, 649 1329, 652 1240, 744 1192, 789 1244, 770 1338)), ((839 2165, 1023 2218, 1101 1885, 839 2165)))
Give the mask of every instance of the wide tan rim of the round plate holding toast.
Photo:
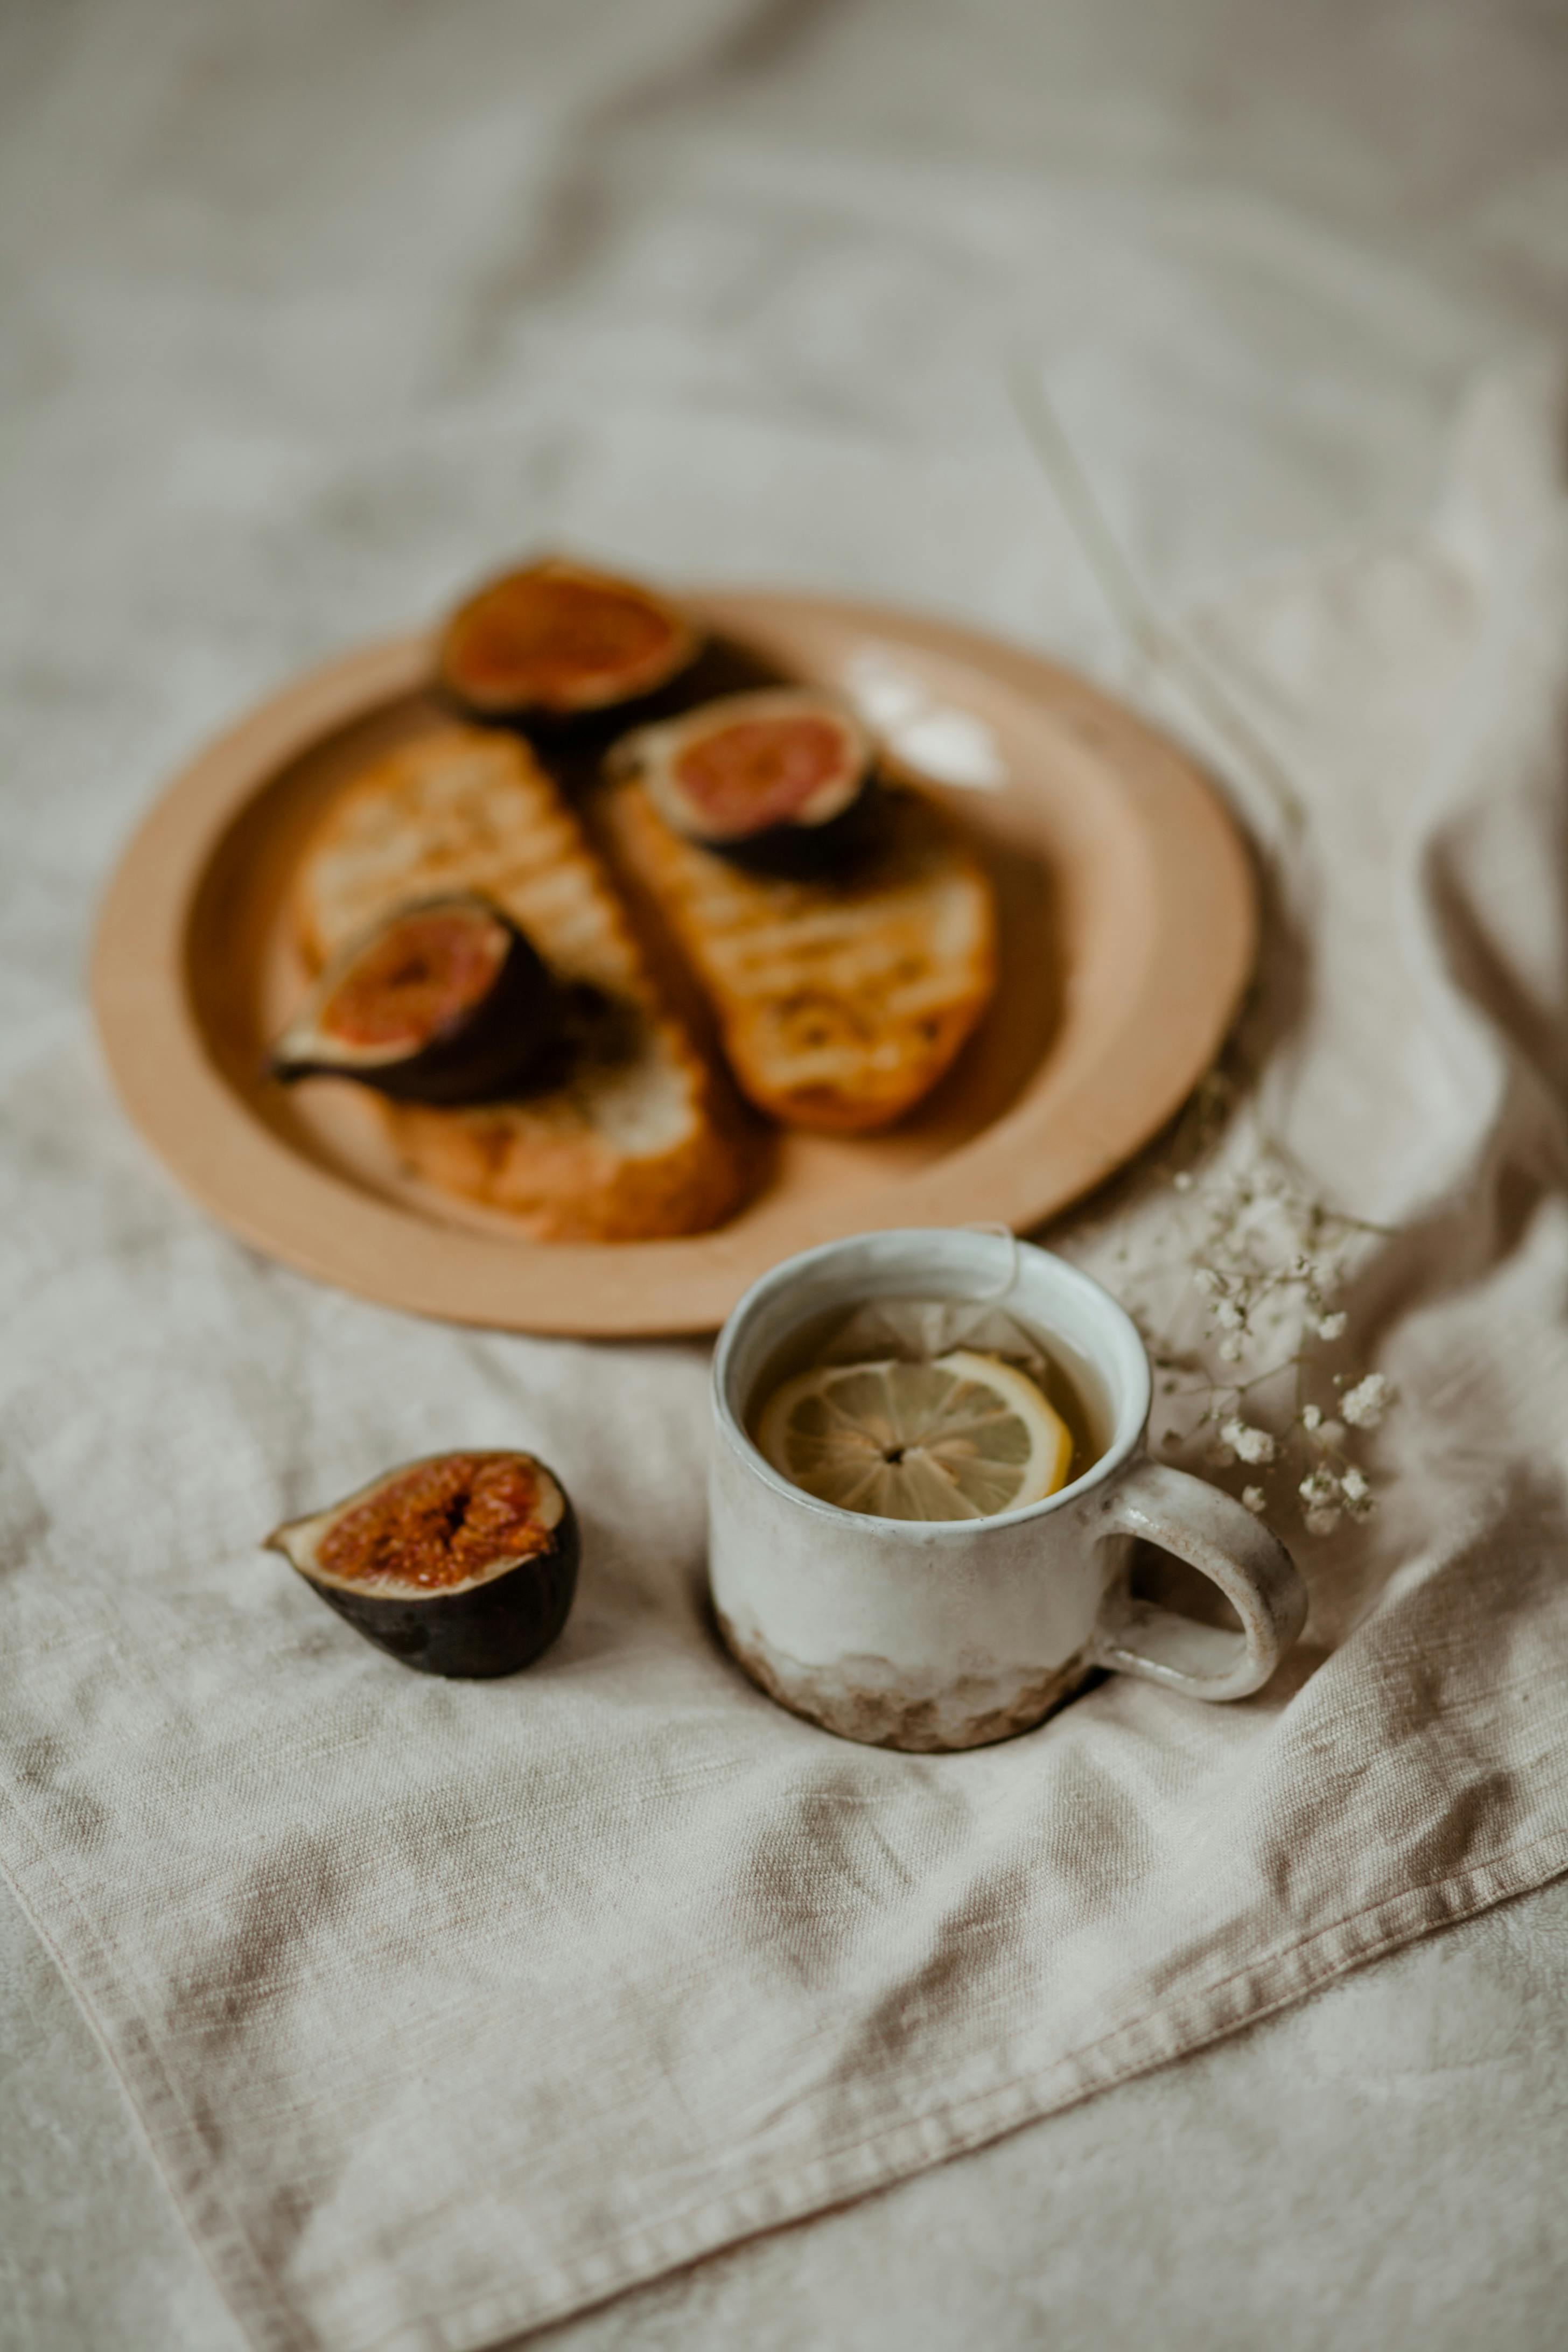
MULTIPOLYGON (((969 1221, 952 1209, 926 1214, 922 1195, 936 1190, 940 1200, 954 1174, 976 1174, 976 1160, 985 1162, 987 1197, 971 1216, 1037 1230, 1150 1143, 1211 1068, 1258 957, 1258 875, 1237 811, 1182 748, 1048 656, 936 614, 766 588, 689 590, 689 602, 741 630, 752 614, 764 628, 795 619, 891 637, 1074 713, 1103 755, 1119 753, 1124 781, 1143 771, 1157 786, 1140 800, 1154 870, 1161 847, 1187 863, 1197 854, 1208 868, 1201 964, 1211 985, 1178 990, 1171 1002, 1161 960, 1147 960, 1138 1004, 1152 990, 1166 997, 1159 1051, 1150 1054, 1143 1018, 1131 1025, 1126 1061, 1105 1082, 1107 1101, 1077 1148, 1058 1152, 1051 1181, 1032 1176, 1025 1148, 1044 1105, 1023 1098, 919 1171, 849 1192, 842 1204, 802 1204, 783 1251, 736 1228, 661 1242, 512 1240, 376 1200, 273 1134, 214 1068, 188 1000, 186 941, 216 847, 277 769, 428 682, 430 630, 402 633, 296 673, 207 741, 139 821, 101 901, 89 995, 115 1094, 165 1171, 226 1230, 336 1289, 442 1322, 571 1338, 705 1334, 795 1249, 860 1230, 969 1221), (409 1247, 414 1237, 418 1247, 409 1247)), ((1161 915, 1171 913, 1166 889, 1161 915)), ((1192 948, 1192 922, 1187 934, 1192 948)))

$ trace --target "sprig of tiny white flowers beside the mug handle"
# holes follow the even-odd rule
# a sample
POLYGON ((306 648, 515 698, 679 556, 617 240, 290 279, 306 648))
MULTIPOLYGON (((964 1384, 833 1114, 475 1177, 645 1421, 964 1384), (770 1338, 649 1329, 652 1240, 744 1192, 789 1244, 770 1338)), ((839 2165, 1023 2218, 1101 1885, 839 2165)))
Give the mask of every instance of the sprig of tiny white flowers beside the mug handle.
MULTIPOLYGON (((1178 1416, 1182 1404, 1197 1406, 1166 1430, 1164 1446, 1185 1449, 1206 1430, 1208 1461, 1258 1472, 1241 1489, 1251 1512, 1265 1515, 1279 1496, 1309 1536, 1328 1536, 1340 1519, 1375 1510, 1373 1482, 1352 1449, 1382 1423, 1394 1390, 1385 1374, 1338 1364, 1335 1352, 1349 1329, 1340 1294, 1382 1228, 1324 1207, 1288 1155, 1255 1134, 1244 1160, 1220 1160, 1215 1136, 1229 1124, 1237 1091, 1211 1073, 1185 1138, 1201 1167, 1171 1178, 1201 1336, 1178 1345, 1168 1329, 1150 1329, 1138 1303, 1133 1312, 1164 1397, 1178 1416)), ((1190 1324, 1190 1308, 1178 1296, 1182 1319, 1190 1324)))

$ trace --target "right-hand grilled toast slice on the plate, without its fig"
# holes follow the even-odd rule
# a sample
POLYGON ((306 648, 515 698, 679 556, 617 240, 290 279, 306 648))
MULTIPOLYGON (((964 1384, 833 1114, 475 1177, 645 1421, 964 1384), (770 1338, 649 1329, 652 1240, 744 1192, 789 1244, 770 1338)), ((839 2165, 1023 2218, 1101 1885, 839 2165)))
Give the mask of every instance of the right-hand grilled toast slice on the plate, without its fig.
POLYGON ((811 882, 684 840, 635 781, 609 788, 604 826, 691 962, 741 1091, 790 1127, 891 1127, 992 1000, 992 889, 924 793, 884 786, 875 849, 811 882))

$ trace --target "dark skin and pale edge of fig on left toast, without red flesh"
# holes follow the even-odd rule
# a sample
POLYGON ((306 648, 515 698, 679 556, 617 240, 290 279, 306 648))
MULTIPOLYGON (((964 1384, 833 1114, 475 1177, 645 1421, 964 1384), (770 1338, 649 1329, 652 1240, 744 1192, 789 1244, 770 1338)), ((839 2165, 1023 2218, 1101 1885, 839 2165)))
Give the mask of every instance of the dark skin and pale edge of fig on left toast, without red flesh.
POLYGON ((395 1103, 494 1103, 522 1091, 534 1070, 559 1044, 564 1000, 548 964, 524 931, 501 908, 468 891, 444 898, 416 898, 395 908, 360 934, 310 990, 306 1007, 277 1040, 268 1061, 270 1077, 292 1087, 301 1077, 350 1077, 360 1087, 395 1103), (444 1023, 421 1047, 376 1058, 320 1028, 320 1014, 331 1002, 353 967, 362 962, 397 924, 418 915, 482 913, 508 934, 505 955, 494 981, 456 1021, 444 1023))

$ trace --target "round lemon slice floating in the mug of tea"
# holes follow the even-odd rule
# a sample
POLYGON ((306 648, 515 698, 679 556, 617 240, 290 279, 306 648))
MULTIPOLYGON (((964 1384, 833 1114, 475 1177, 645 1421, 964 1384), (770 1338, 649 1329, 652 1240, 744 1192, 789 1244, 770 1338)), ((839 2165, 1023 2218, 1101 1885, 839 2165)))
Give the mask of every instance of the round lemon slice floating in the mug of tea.
POLYGON ((1072 1430, 1027 1374, 957 1348, 931 1364, 816 1364, 773 1390, 766 1461, 879 1519, 990 1519, 1067 1482, 1072 1430))

